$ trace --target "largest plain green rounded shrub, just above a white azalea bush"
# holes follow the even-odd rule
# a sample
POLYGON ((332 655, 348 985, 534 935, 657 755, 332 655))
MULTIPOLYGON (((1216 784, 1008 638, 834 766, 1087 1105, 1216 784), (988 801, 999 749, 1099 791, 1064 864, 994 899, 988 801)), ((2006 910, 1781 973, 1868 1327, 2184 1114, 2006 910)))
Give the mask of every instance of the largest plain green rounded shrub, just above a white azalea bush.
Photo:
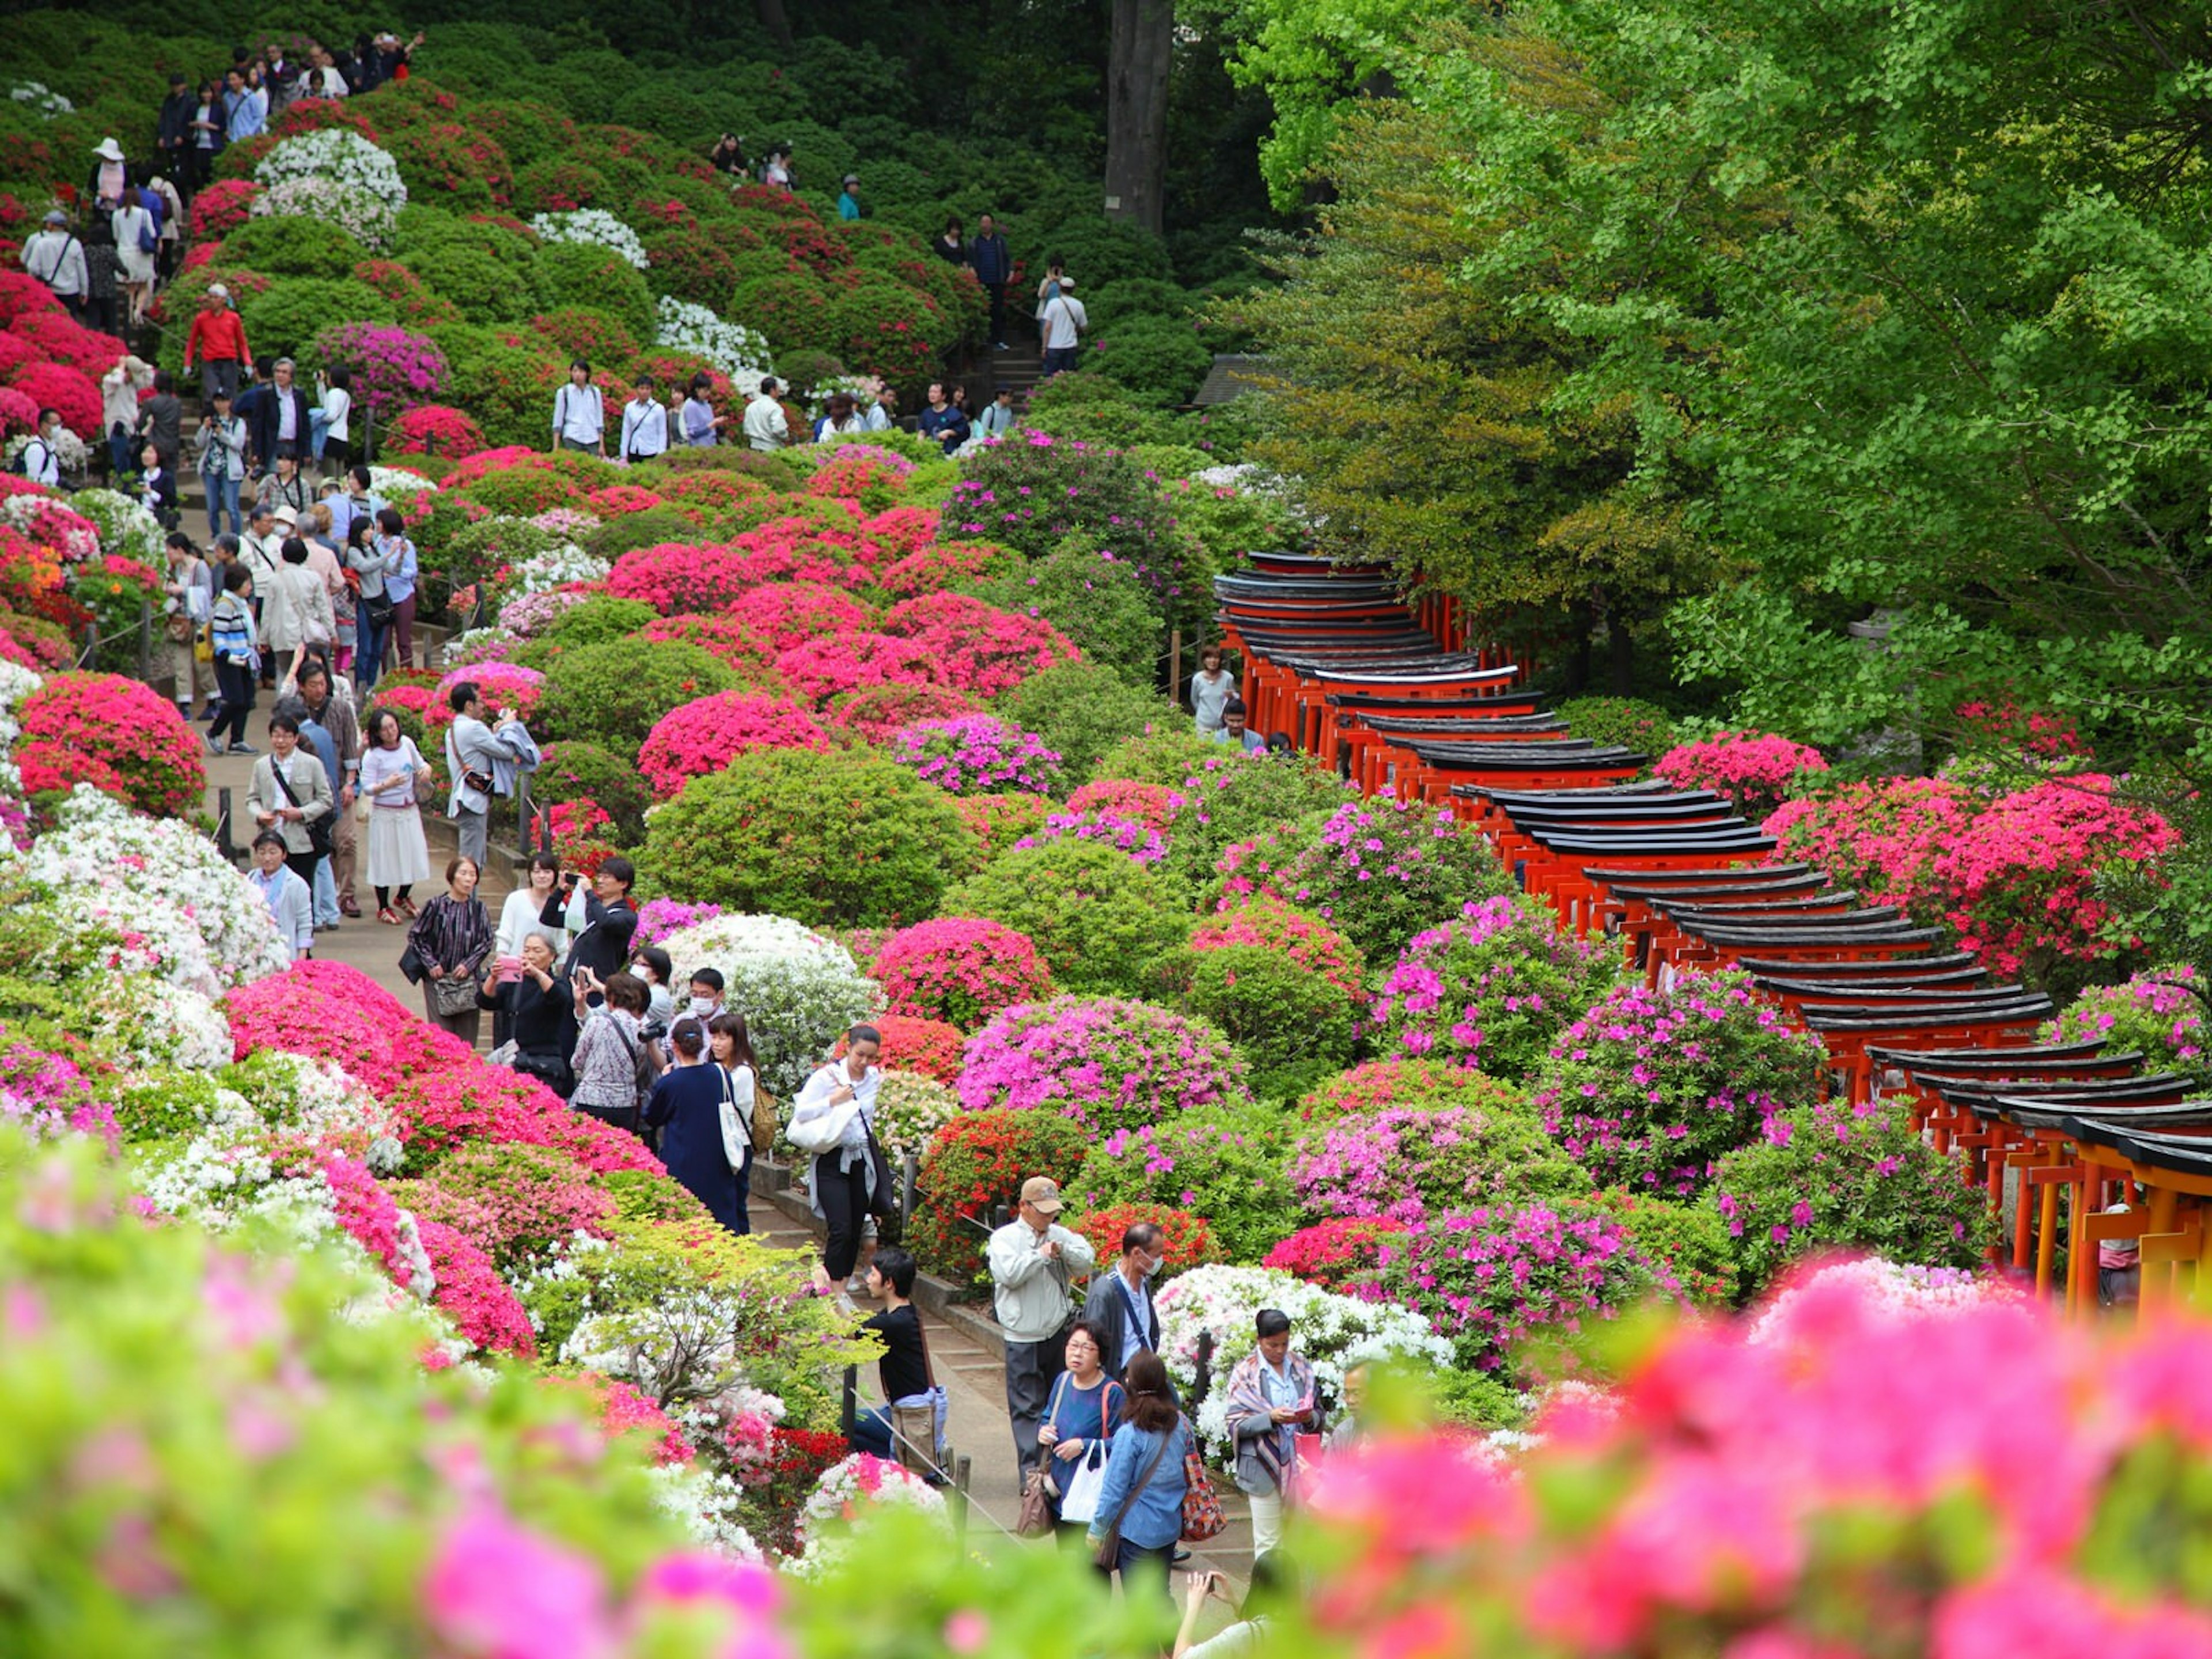
POLYGON ((810 927, 905 927, 938 911, 971 847, 951 796, 874 750, 750 750, 653 814, 639 874, 810 927))

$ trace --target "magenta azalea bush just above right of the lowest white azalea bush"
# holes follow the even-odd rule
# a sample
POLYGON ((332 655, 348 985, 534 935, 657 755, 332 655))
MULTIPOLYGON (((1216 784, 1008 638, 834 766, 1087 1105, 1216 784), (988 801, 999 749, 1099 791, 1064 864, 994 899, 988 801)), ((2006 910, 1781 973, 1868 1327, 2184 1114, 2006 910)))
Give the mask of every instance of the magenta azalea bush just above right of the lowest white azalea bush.
POLYGON ((1495 1371, 1540 1334, 1575 1334, 1674 1290, 1613 1217, 1546 1203, 1484 1206, 1416 1221, 1376 1245, 1352 1285, 1396 1301, 1449 1336, 1460 1365, 1495 1371))

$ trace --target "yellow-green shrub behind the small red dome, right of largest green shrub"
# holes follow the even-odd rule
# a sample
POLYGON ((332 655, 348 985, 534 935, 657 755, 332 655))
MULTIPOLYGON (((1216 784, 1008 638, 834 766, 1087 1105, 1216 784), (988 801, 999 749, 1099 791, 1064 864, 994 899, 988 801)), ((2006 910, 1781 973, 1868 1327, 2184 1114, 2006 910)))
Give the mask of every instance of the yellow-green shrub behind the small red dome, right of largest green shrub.
POLYGON ((945 894, 945 916, 1026 933, 1053 982, 1079 995, 1139 993, 1146 967, 1190 936, 1186 894, 1097 841, 1009 847, 945 894))

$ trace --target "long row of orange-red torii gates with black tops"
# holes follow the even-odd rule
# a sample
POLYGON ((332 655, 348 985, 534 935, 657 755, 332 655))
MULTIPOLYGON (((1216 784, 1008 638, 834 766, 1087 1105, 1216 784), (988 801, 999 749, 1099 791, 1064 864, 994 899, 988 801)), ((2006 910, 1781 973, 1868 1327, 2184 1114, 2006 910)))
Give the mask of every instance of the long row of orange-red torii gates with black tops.
POLYGON ((1834 1091, 1902 1099, 1964 1159, 2006 1223, 1995 1261, 2039 1294, 2064 1248, 2066 1307, 2093 1312, 2097 1245, 2117 1239, 2141 1250, 2146 1318, 2194 1292, 2212 1259, 2212 1099, 2183 1077, 2101 1042, 2037 1042, 2042 993, 1776 863, 1728 796, 1639 783, 1646 757, 1571 737, 1449 599, 1409 608, 1387 573, 1298 553, 1252 555, 1214 597, 1252 730, 1290 734, 1367 794, 1449 807, 1562 927, 1619 938, 1652 984, 1750 973, 1827 1046, 1834 1091))

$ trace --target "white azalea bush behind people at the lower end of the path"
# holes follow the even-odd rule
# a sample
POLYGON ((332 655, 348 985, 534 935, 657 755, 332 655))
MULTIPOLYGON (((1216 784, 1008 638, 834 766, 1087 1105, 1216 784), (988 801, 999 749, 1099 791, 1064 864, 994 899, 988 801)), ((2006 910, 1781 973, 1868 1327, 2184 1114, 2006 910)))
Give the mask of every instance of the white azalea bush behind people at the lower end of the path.
POLYGON ((1290 1316, 1290 1347, 1312 1363, 1314 1383, 1329 1398, 1343 1398, 1345 1371, 1360 1360, 1396 1358, 1422 1369, 1451 1367, 1451 1343, 1429 1329, 1429 1321, 1420 1314, 1338 1296, 1276 1267, 1192 1267, 1161 1287, 1157 1307, 1159 1356, 1183 1394, 1199 1380, 1199 1336, 1212 1332, 1212 1387, 1194 1427, 1208 1458, 1223 1469, 1237 1462, 1228 1422, 1228 1376, 1259 1343, 1252 1321, 1261 1307, 1279 1307, 1290 1316))

